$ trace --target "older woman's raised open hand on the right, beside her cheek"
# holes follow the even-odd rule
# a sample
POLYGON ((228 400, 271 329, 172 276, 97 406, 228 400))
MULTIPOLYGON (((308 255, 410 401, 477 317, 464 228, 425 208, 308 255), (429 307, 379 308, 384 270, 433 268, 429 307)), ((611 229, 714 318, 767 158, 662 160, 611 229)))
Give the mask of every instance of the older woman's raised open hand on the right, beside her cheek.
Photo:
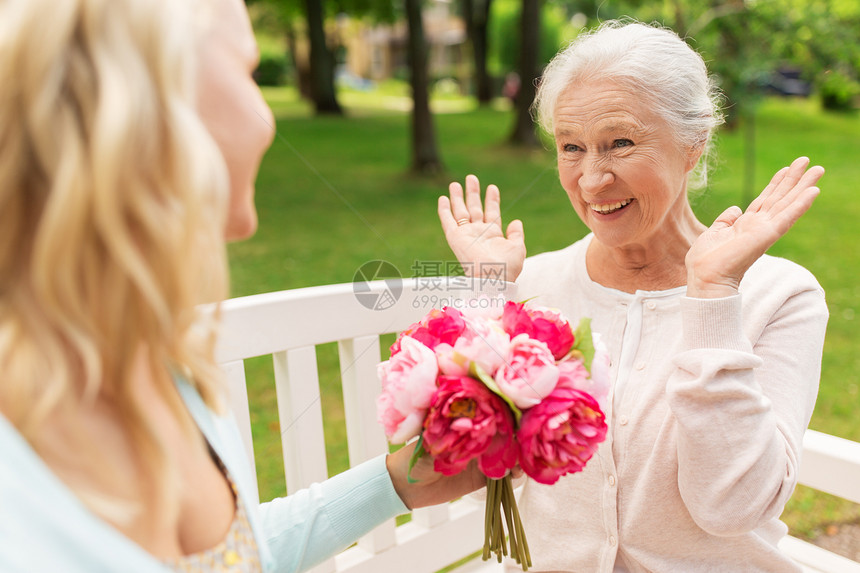
POLYGON ((806 213, 824 175, 799 157, 780 169, 745 212, 729 207, 687 253, 687 296, 718 298, 738 292, 744 273, 806 213))

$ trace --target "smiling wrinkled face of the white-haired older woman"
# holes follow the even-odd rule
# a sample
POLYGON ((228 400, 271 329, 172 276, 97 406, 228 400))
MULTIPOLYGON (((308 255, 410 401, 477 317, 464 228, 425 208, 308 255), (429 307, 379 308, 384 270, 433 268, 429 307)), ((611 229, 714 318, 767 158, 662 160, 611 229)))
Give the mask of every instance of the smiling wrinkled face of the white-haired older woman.
POLYGON ((680 150, 635 93, 609 81, 568 88, 553 129, 561 185, 604 245, 647 247, 685 224, 687 176, 701 150, 680 150))

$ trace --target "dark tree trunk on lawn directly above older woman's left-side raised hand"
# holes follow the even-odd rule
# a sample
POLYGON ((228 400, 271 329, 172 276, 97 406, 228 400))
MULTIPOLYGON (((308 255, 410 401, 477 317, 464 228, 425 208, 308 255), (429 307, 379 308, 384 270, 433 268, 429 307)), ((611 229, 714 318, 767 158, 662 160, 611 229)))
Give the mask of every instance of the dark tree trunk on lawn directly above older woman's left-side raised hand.
POLYGON ((421 16, 421 0, 406 0, 407 44, 412 84, 412 170, 432 174, 442 171, 436 149, 433 115, 430 113, 427 46, 421 16))

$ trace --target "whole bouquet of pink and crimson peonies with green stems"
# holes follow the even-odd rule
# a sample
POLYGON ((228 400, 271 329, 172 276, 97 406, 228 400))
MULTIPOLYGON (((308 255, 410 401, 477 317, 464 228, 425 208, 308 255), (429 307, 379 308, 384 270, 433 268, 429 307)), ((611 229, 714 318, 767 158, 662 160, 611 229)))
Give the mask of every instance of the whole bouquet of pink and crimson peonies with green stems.
MULTIPOLYGON (((590 319, 499 300, 495 310, 432 310, 379 365, 379 421, 392 443, 419 436, 412 464, 487 476, 484 554, 531 565, 510 470, 553 484, 581 471, 606 437, 609 355, 590 319), (504 520, 503 520, 504 516, 504 520)), ((486 306, 486 305, 479 305, 486 306)), ((411 466, 410 466, 411 469, 411 466)))

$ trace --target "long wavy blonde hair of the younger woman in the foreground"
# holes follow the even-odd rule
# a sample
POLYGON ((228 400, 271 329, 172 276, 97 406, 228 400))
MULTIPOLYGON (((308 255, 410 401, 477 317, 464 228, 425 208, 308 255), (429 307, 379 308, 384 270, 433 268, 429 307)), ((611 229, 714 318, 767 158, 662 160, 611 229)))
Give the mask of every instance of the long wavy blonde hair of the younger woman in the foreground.
POLYGON ((196 111, 193 3, 0 3, 0 410, 37 451, 52 414, 107 397, 165 469, 141 356, 180 420, 171 369, 220 407, 196 306, 226 294, 228 177, 196 111))

